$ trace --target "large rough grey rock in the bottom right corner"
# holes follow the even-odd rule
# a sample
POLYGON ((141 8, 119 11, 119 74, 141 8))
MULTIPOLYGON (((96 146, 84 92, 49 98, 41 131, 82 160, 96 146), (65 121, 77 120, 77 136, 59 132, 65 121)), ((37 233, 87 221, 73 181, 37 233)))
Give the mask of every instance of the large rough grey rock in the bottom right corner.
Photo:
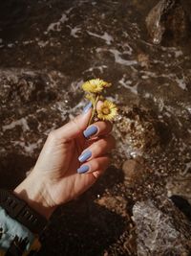
POLYGON ((150 200, 135 204, 133 219, 137 226, 138 256, 189 255, 191 226, 173 205, 169 207, 171 216, 150 200), (173 214, 179 216, 179 222, 173 214))

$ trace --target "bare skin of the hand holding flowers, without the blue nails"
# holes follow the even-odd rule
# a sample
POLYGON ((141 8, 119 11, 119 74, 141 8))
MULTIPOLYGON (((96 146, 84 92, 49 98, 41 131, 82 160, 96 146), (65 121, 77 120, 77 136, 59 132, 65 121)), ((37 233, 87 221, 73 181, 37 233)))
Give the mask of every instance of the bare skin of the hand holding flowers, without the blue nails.
POLYGON ((115 139, 110 134, 112 124, 98 121, 97 132, 87 139, 87 128, 92 108, 61 128, 53 130, 40 152, 32 173, 14 189, 17 197, 25 200, 34 210, 49 219, 55 208, 78 197, 90 188, 110 164, 110 152, 115 139), (86 150, 92 156, 80 163, 79 155, 86 150), (89 171, 78 174, 77 169, 86 165, 89 171))

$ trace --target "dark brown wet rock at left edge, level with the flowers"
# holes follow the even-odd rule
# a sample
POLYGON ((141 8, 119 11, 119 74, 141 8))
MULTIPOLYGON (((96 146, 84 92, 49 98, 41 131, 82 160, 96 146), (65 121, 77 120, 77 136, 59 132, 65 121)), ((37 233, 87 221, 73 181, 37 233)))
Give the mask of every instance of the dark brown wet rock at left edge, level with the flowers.
MULTIPOLYGON (((55 82, 54 82, 55 83, 55 82)), ((50 104, 58 100, 51 74, 25 69, 0 70, 2 104, 50 104)))

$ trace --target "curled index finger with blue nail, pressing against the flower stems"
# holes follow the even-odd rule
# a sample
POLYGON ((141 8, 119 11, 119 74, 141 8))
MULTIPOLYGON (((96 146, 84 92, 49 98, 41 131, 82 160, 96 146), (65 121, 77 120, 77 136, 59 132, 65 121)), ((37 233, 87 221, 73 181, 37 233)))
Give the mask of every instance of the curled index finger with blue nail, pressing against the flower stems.
POLYGON ((110 122, 98 121, 95 124, 89 126, 83 131, 85 138, 96 137, 100 135, 109 134, 112 131, 112 124, 110 122))

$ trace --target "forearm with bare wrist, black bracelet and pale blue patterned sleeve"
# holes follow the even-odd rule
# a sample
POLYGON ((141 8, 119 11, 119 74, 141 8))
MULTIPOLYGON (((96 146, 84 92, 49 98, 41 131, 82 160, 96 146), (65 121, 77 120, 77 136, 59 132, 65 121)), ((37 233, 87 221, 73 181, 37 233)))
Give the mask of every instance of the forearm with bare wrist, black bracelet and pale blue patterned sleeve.
POLYGON ((53 209, 47 206, 42 197, 43 186, 38 184, 38 180, 30 176, 13 193, 0 190, 0 255, 21 256, 40 248, 38 235, 53 209))

